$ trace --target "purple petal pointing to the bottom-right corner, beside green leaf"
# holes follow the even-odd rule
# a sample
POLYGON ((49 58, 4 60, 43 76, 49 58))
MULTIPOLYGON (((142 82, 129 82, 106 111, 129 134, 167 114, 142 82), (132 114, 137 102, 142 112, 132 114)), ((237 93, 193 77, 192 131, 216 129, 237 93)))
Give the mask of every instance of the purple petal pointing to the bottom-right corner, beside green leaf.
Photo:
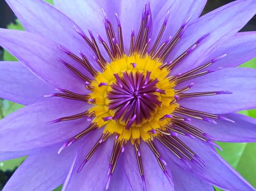
POLYGON ((202 158, 204 163, 206 163, 204 171, 192 164, 192 169, 190 170, 192 175, 227 190, 254 190, 254 188, 227 164, 213 148, 198 139, 192 140, 182 135, 179 139, 189 146, 202 158))

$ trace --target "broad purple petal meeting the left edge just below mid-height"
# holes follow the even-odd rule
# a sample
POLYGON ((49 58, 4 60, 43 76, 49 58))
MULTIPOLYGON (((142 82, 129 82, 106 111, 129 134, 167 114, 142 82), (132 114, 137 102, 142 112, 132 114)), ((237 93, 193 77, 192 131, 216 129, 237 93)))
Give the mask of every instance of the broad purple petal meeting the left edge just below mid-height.
POLYGON ((59 117, 88 110, 89 104, 54 99, 22 108, 0 121, 0 150, 25 151, 70 139, 89 125, 83 118, 47 125, 59 117))

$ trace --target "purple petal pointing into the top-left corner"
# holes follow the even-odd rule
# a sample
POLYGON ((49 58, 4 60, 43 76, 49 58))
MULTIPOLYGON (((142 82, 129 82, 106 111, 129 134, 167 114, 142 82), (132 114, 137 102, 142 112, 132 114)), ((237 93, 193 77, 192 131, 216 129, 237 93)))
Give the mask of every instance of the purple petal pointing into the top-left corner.
POLYGON ((74 29, 74 26, 77 29, 79 27, 52 5, 41 0, 7 0, 7 3, 27 31, 66 46, 73 53, 77 54, 82 50, 87 53, 89 59, 92 59, 92 51, 74 29))

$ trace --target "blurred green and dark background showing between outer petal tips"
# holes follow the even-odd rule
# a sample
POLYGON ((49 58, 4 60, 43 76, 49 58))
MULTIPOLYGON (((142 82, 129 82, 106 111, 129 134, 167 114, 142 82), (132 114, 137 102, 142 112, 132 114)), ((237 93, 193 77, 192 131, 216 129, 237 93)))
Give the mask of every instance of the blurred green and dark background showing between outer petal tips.
MULTIPOLYGON (((47 2, 53 3, 52 0, 48 0, 47 2)), ((210 10, 213 10, 220 5, 228 3, 231 1, 225 0, 211 0, 208 1, 206 8, 203 11, 203 14, 207 13, 210 10)), ((0 1, 1 9, 5 8, 4 0, 0 1)), ((1 10, 2 12, 3 10, 1 10)), ((10 13, 5 10, 5 15, 9 15, 10 20, 12 22, 4 23, 2 22, 2 26, 6 24, 7 28, 10 29, 17 29, 23 30, 23 27, 20 25, 19 21, 15 19, 10 13)), ((6 22, 6 21, 5 21, 6 22)), ((255 17, 252 19, 246 27, 242 29, 242 31, 256 31, 256 24, 255 24, 255 17)), ((1 50, 0 50, 1 52, 1 50)), ((1 54, 0 54, 1 59, 1 54)), ((16 61, 12 55, 10 55, 7 51, 2 51, 2 59, 5 61, 16 61)), ((250 67, 256 68, 256 58, 252 59, 251 61, 244 63, 241 67, 250 67)), ((0 99, 0 119, 7 116, 11 112, 22 108, 22 105, 15 104, 13 102, 9 102, 8 100, 0 99)), ((256 118, 256 110, 249 110, 249 111, 241 111, 241 114, 248 115, 251 117, 256 118)), ((218 151, 219 154, 230 164, 232 165, 240 174, 246 178, 255 188, 256 188, 256 143, 224 143, 218 142, 223 151, 218 151)), ((0 190, 3 188, 4 184, 7 182, 8 178, 13 174, 15 169, 22 163, 22 161, 26 157, 7 160, 4 162, 0 162, 0 190)), ((60 190, 61 187, 56 188, 55 190, 60 190)), ((214 188, 215 190, 221 190, 218 188, 214 188)))

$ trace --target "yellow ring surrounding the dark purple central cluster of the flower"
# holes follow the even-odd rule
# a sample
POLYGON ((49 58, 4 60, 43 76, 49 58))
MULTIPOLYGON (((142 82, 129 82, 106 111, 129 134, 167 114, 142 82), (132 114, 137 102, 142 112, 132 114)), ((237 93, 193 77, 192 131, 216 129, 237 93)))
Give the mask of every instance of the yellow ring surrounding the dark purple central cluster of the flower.
POLYGON ((95 112, 95 118, 92 122, 96 122, 99 127, 104 127, 104 133, 116 134, 119 140, 130 140, 132 144, 134 139, 152 140, 159 130, 166 130, 164 125, 170 122, 170 119, 160 120, 160 118, 172 114, 178 104, 169 105, 170 101, 174 100, 174 83, 169 83, 169 71, 165 68, 159 69, 161 65, 161 62, 151 59, 151 56, 146 55, 141 58, 137 53, 134 53, 133 56, 123 55, 122 58, 107 63, 106 69, 102 73, 99 72, 91 83, 94 89, 90 93, 90 98, 94 99, 94 102, 90 104, 94 106, 89 109, 89 112, 95 112), (126 129, 128 122, 113 120, 112 117, 114 117, 115 112, 109 109, 110 100, 107 98, 107 94, 111 91, 111 85, 117 83, 114 74, 122 76, 124 72, 139 72, 146 76, 147 71, 151 72, 150 79, 158 80, 156 87, 164 90, 165 94, 155 92, 161 105, 156 107, 156 110, 151 113, 151 117, 148 120, 143 120, 140 124, 133 123, 129 129, 126 129), (109 117, 110 120, 104 121, 103 118, 106 117, 109 117))

